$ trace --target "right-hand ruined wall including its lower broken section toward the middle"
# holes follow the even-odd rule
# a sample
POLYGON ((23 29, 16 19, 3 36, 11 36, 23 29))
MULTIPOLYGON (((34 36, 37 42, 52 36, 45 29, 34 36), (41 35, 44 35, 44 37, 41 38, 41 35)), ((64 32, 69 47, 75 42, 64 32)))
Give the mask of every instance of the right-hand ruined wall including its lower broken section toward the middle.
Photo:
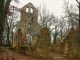
POLYGON ((56 43, 51 45, 51 50, 64 53, 65 57, 80 57, 80 30, 71 28, 66 32, 64 40, 57 38, 56 43))

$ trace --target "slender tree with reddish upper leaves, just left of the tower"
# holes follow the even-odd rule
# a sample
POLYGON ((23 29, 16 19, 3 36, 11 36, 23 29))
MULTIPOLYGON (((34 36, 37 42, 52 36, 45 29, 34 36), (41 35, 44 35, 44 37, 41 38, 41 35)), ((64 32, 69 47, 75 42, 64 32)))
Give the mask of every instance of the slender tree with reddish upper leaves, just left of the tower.
POLYGON ((18 12, 19 9, 14 6, 9 6, 9 11, 7 14, 7 20, 6 20, 6 29, 5 29, 5 35, 6 36, 6 44, 10 46, 10 42, 13 39, 13 29, 16 27, 17 18, 18 18, 18 12))

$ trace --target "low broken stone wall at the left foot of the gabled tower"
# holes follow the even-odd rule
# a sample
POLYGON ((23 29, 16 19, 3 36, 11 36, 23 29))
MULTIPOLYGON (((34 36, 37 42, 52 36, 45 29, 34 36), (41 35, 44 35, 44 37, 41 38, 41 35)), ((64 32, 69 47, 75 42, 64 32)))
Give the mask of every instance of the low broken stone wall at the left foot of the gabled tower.
POLYGON ((13 47, 20 47, 27 45, 26 31, 24 29, 18 29, 13 37, 13 47))

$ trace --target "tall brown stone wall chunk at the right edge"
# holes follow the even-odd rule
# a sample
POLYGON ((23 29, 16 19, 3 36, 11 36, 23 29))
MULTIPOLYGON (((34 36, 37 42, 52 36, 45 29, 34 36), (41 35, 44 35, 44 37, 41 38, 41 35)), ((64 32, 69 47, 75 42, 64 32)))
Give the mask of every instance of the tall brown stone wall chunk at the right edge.
POLYGON ((64 56, 79 57, 80 56, 80 42, 77 31, 71 28, 65 36, 65 51, 64 56))

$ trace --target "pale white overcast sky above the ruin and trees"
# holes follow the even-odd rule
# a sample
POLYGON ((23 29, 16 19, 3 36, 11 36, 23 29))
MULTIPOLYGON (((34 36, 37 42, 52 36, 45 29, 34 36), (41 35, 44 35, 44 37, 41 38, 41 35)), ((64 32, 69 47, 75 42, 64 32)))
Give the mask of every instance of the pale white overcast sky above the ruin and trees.
MULTIPOLYGON (((49 10, 50 13, 53 13, 55 16, 60 17, 62 15, 62 6, 64 0, 19 0, 20 5, 19 7, 23 7, 27 3, 31 2, 34 6, 42 6, 43 3, 46 5, 46 8, 49 10)), ((67 0, 70 4, 76 5, 76 0, 67 0)))

